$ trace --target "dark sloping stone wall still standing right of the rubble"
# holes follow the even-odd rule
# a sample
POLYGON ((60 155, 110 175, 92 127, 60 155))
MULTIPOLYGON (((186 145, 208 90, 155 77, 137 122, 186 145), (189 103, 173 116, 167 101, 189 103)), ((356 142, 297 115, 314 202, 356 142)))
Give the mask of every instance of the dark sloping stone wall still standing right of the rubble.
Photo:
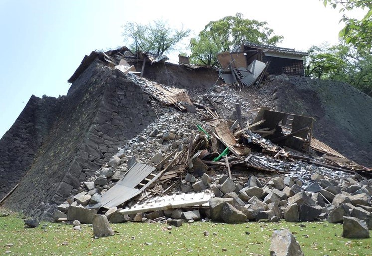
POLYGON ((277 85, 279 111, 314 117, 314 137, 372 167, 371 97, 332 80, 277 76, 271 83, 277 85))

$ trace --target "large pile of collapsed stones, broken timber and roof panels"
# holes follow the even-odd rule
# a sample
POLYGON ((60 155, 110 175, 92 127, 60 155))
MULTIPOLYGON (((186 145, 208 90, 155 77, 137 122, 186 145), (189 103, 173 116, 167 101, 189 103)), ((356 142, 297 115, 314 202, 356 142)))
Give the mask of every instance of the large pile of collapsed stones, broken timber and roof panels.
POLYGON ((188 112, 154 100, 159 119, 58 206, 56 221, 91 223, 97 213, 112 223, 337 223, 352 216, 372 229, 372 171, 316 140, 313 118, 240 104, 227 114, 218 95, 192 102, 184 90, 127 76, 188 112), (244 118, 253 112, 253 121, 244 118))

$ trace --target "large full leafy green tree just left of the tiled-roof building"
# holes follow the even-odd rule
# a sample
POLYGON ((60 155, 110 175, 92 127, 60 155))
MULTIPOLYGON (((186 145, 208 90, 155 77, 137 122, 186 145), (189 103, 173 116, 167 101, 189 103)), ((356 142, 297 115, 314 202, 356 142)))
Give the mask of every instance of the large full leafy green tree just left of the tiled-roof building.
POLYGON ((245 19, 243 14, 209 22, 197 38, 190 40, 191 62, 217 66, 217 54, 244 42, 276 45, 283 37, 273 35, 266 22, 245 19))

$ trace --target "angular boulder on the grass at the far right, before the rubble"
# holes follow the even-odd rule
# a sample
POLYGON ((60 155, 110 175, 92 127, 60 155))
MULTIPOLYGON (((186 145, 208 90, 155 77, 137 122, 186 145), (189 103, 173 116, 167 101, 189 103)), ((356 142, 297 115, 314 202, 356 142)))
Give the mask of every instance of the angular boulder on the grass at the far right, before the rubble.
POLYGON ((342 230, 342 237, 345 238, 370 237, 366 222, 354 217, 344 217, 342 230))

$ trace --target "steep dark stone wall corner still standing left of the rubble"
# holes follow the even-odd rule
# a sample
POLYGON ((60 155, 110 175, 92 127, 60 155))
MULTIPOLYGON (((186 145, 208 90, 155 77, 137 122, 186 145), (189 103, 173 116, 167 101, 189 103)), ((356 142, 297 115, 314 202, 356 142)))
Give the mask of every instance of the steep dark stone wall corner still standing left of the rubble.
MULTIPOLYGON (((32 108, 25 111, 26 116, 33 115, 32 108)), ((77 192, 80 182, 106 163, 124 140, 151 123, 156 113, 138 85, 96 60, 74 81, 53 116, 32 166, 24 168, 27 173, 19 176, 19 187, 5 202, 6 207, 42 219, 51 219, 56 205, 77 192)), ((27 130, 39 125, 35 120, 27 130)), ((18 128, 12 129, 16 133, 18 128)))

